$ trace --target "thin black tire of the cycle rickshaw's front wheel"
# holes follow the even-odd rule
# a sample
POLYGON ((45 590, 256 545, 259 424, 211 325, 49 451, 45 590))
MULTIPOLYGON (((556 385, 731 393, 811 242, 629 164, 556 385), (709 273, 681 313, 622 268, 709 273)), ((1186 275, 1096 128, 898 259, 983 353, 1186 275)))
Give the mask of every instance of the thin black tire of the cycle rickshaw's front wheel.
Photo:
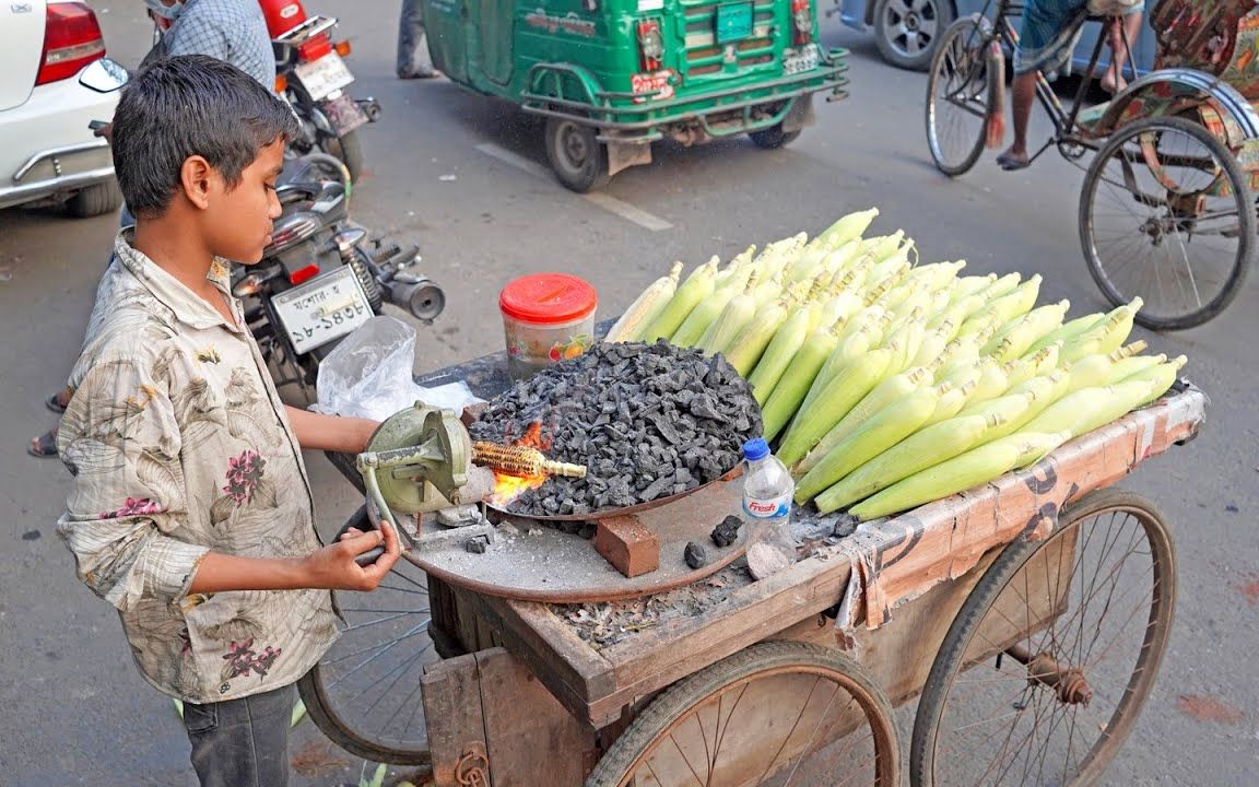
MULTIPOLYGON (((980 154, 983 152, 986 117, 992 110, 992 101, 995 101, 995 92, 985 62, 985 50, 992 42, 993 35, 991 23, 982 15, 971 14, 969 16, 963 16, 944 30, 939 47, 932 57, 930 71, 927 78, 927 147, 932 154, 935 169, 949 178, 957 178, 968 173, 974 166, 974 162, 980 160, 980 154), (978 35, 976 35, 976 31, 978 31, 978 35), (968 74, 964 78, 964 83, 972 87, 982 84, 980 89, 982 89, 983 94, 982 97, 978 94, 974 97, 976 102, 974 107, 972 107, 972 110, 982 107, 982 112, 978 115, 978 128, 973 133, 973 141, 968 141, 971 135, 963 128, 957 145, 959 152, 953 154, 946 150, 946 147, 953 146, 943 142, 943 130, 940 127, 940 110, 944 106, 952 105, 952 102, 944 101, 944 97, 939 93, 942 87, 949 88, 949 86, 953 86, 953 88, 959 89, 961 86, 956 83, 958 62, 966 67, 966 73, 968 74), (942 103, 938 105, 937 102, 942 103)), ((954 108, 961 110, 962 107, 956 107, 954 105, 954 108)))

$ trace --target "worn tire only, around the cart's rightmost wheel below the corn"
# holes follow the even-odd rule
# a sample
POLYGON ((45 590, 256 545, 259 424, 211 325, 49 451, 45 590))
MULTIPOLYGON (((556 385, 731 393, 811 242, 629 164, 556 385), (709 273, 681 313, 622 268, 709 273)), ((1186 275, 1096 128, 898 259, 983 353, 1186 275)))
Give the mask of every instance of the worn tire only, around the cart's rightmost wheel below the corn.
MULTIPOLYGON (((1056 544, 1065 544, 1065 541, 1059 541, 1059 539, 1065 539, 1069 534, 1078 539, 1080 528, 1084 523, 1090 521, 1094 518, 1099 519, 1107 514, 1112 514, 1113 523, 1114 515, 1118 512, 1128 514, 1139 523, 1141 530, 1151 548, 1149 558, 1153 579, 1151 580, 1149 617, 1146 626, 1146 633, 1142 638, 1136 665, 1132 669, 1131 675, 1128 675, 1122 696, 1115 704, 1114 713, 1110 715, 1110 719, 1107 724, 1104 724, 1104 727, 1099 727, 1099 742, 1089 750, 1088 756, 1081 759, 1079 773, 1070 781, 1066 781, 1065 773, 1068 769, 1066 766, 1069 766, 1070 762, 1071 750, 1070 747, 1068 747, 1066 764, 1064 764, 1064 779, 1063 782, 1055 783, 1092 784, 1102 774, 1107 764, 1132 732, 1144 701, 1153 688, 1153 681, 1158 674, 1158 667, 1167 648, 1167 640, 1171 633, 1172 614, 1176 604, 1175 548, 1162 514, 1144 497, 1133 492, 1114 489, 1095 491, 1085 495, 1079 502, 1071 505, 1068 510, 1064 510, 1061 519, 1064 524, 1061 524, 1049 539, 1044 541, 1017 540, 1006 546, 992 565, 988 567, 980 583, 967 597, 961 611, 954 618, 953 625, 949 627, 948 635, 944 637, 944 642, 940 645, 939 652, 935 656, 930 675, 923 689, 923 698, 918 706, 918 714, 914 718, 914 732, 910 743, 909 758, 910 784, 914 787, 943 787, 943 782, 946 779, 938 778, 935 768, 938 759, 944 761, 947 766, 954 768, 959 764, 966 767, 972 762, 982 762, 982 757, 980 757, 978 750, 974 748, 968 750, 966 758, 954 757, 951 759, 947 754, 938 758, 937 754, 951 693, 957 686, 957 679, 959 674, 962 674, 963 666, 966 666, 969 647, 973 643, 974 637, 980 633, 987 618, 987 613, 997 608, 997 604, 1007 588, 1013 587, 1015 593, 1019 592, 1013 580, 1019 575, 1020 570, 1029 567, 1031 560, 1037 554, 1046 555, 1045 560, 1047 567, 1049 553, 1042 550, 1047 550, 1056 544)), ((1088 543, 1085 541, 1084 545, 1080 546, 1079 541, 1076 541, 1073 546, 1079 548, 1083 553, 1088 548, 1088 543)), ((1068 591, 1070 591, 1070 584, 1074 583, 1074 570, 1075 569, 1073 568, 1073 574, 1068 579, 1068 591)), ((1047 580, 1046 588, 1049 588, 1047 580)), ((1061 588, 1059 587, 1055 589, 1061 588)), ((1113 596, 1107 598, 1103 613, 1109 609, 1112 598, 1113 596)), ((1005 614, 1003 611, 1001 613, 1005 614)), ((1059 620, 1060 616, 1055 617, 1051 626, 1056 625, 1059 620)), ((1011 626, 1019 626, 1015 621, 1010 621, 1008 617, 1006 621, 1008 621, 1011 626)), ((1081 614, 1081 632, 1084 631, 1083 621, 1084 616, 1081 614)), ((1071 620, 1069 620, 1068 623, 1071 623, 1071 620)), ((1007 648, 1006 652, 1008 652, 1008 650, 1010 648, 1007 648)), ((1092 655, 1092 651, 1087 655, 1092 655)), ((972 659, 972 662, 974 662, 972 669, 980 669, 980 662, 982 661, 983 659, 972 659)), ((997 664, 1000 674, 1001 662, 998 661, 997 664)), ((1080 674, 1083 675, 1084 672, 1081 671, 1080 674)), ((1031 682, 1026 677, 1026 674, 1021 680, 1025 684, 1031 682)), ((978 685, 982 681, 967 682, 978 685)), ((995 684, 997 681, 988 679, 987 682, 995 684)), ((1065 701, 1059 701, 1059 704, 1063 706, 1070 706, 1065 701)), ((1002 704, 1001 708, 1005 709, 1003 713, 1008 711, 1008 704, 1002 704)), ((1026 705, 1017 710, 1021 713, 1025 708, 1026 705)), ((1011 723, 1011 730, 1017 727, 1017 720, 1011 723)), ((972 727, 977 728, 978 725, 972 727)), ((958 730, 961 729, 964 729, 964 727, 958 728, 958 730)), ((1050 733, 1053 732, 1054 729, 1050 729, 1050 733)), ((1071 742, 1074 743, 1074 716, 1073 727, 1070 728, 1069 734, 1071 735, 1071 742)), ((1035 745, 1035 743, 1032 745, 1035 745)), ((1042 750, 1047 750, 1047 747, 1042 748, 1042 750)), ((988 771, 991 771, 991 766, 988 771)), ((985 776, 987 776, 987 773, 985 773, 985 776)), ((1003 776, 1003 772, 998 776, 1003 776)), ((985 778, 980 778, 978 781, 983 783, 1001 783, 1000 778, 995 782, 985 778)), ((974 779, 966 779, 964 782, 958 783, 969 784, 974 783, 974 779)), ((1025 781, 1024 783, 1027 782, 1025 781)))

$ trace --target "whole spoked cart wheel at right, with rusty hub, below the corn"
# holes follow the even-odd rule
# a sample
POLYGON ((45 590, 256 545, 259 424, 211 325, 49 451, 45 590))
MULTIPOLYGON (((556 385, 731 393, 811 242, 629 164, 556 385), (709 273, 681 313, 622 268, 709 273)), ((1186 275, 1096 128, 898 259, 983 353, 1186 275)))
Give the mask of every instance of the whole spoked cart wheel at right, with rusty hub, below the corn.
POLYGON ((914 719, 914 787, 1092 784, 1132 732, 1171 631, 1171 536, 1118 490, 1063 523, 1007 546, 953 621, 914 719))

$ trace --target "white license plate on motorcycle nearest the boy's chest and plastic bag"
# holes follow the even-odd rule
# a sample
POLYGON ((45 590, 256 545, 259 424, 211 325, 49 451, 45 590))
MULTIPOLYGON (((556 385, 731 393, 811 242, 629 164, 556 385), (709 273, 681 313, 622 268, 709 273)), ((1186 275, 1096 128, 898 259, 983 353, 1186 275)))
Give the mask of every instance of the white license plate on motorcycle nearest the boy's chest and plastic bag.
POLYGON ((298 355, 340 339, 371 319, 371 305, 350 268, 312 278, 281 292, 271 302, 298 355))

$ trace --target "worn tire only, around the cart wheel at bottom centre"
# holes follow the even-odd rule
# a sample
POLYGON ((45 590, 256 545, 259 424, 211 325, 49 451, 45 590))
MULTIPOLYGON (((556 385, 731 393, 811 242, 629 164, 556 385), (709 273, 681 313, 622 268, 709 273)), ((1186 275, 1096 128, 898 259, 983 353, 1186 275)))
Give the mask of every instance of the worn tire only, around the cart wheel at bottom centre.
MULTIPOLYGON (((865 670, 855 661, 841 655, 838 651, 820 647, 816 645, 808 645, 803 642, 762 642, 759 645, 753 645, 733 656, 729 656, 704 670, 700 670, 695 675, 684 679, 682 681, 675 684, 665 694, 657 698, 651 705, 643 710, 630 725, 630 728, 612 744, 607 754, 599 761, 594 772, 590 773, 585 782, 585 787, 623 787, 627 778, 635 777, 635 768, 640 763, 646 762, 646 758, 658 749, 655 748, 655 743, 661 740, 665 735, 669 735, 671 730, 679 729, 681 720, 687 718, 686 714, 690 711, 696 711, 692 718, 699 719, 700 732, 705 738, 705 752, 708 750, 708 740, 703 727, 703 719, 699 716, 701 713, 699 709, 703 708, 705 700, 718 696, 725 689, 743 682, 743 691, 747 691, 747 686, 752 685, 753 681, 758 679, 782 677, 784 675, 803 675, 812 674, 818 681, 822 676, 826 676, 836 682, 837 686, 847 691, 852 700, 856 701, 855 710, 860 710, 864 718, 870 724, 871 740, 874 742, 874 768, 875 768, 875 783, 880 787, 895 787, 899 784, 900 779, 900 748, 896 738, 896 728, 893 723, 891 705, 888 703, 888 698, 884 695, 883 690, 878 684, 866 675, 865 670)), ((815 684, 816 685, 816 684, 815 684)), ((836 689, 838 694, 838 688, 836 689)), ((724 695, 721 695, 724 699, 724 695)), ((739 695, 743 699, 743 694, 739 695)), ((806 700, 806 708, 812 695, 806 700)), ((833 699, 832 699, 833 701, 833 699)), ((752 705, 755 705, 755 700, 749 700, 752 705)), ((845 711, 851 706, 845 705, 845 711)), ((713 759, 719 757, 719 749, 721 742, 726 739, 726 735, 738 738, 739 733, 730 733, 730 725, 734 713, 738 708, 738 701, 730 710, 730 718, 726 719, 726 724, 721 728, 721 734, 718 738, 714 734, 711 758, 706 763, 709 771, 706 773, 706 779, 700 779, 695 774, 694 781, 708 784, 709 787, 734 787, 735 782, 721 779, 714 781, 716 776, 716 769, 713 759)), ((830 705, 827 705, 827 710, 830 705)), ((720 718, 721 708, 718 708, 718 714, 720 718)), ((823 711, 823 718, 825 718, 823 711)), ((805 715, 805 709, 801 710, 801 718, 805 715)), ((842 715, 842 714, 841 714, 842 715)), ((797 720, 798 722, 798 720, 797 720)), ((772 727, 772 725, 771 725, 772 727)), ((714 733, 716 729, 714 729, 714 733)), ((763 730, 764 734, 769 734, 769 729, 763 730)), ((792 739, 794 734, 794 728, 788 730, 787 739, 783 740, 782 747, 786 747, 788 740, 792 739)), ((816 730, 815 733, 816 734, 816 730)), ((670 738, 674 740, 672 738, 670 738)), ((694 735, 691 742, 694 743, 694 735)), ((674 740, 675 745, 677 742, 674 740)), ((810 747, 815 743, 811 737, 805 742, 806 753, 816 752, 810 747)), ((682 759, 686 759, 686 754, 679 745, 677 752, 681 754, 682 759)), ((774 761, 777 761, 778 754, 782 753, 782 748, 776 752, 774 761)), ((806 754, 807 756, 807 754, 806 754)), ((803 759, 803 758, 802 758, 803 759)), ((676 761, 675 761, 676 762, 676 761)), ((789 759, 787 762, 791 762, 789 759)), ((742 764, 742 763, 740 763, 742 764)), ((767 766, 768 769, 773 767, 773 762, 767 766)), ((651 767, 647 762, 647 767, 651 767)), ((694 766, 686 762, 686 767, 690 772, 696 773, 694 766)), ((799 767, 797 762, 796 767, 799 767)), ((794 776, 796 771, 793 768, 788 778, 794 776)), ((661 784, 669 784, 671 782, 663 781, 660 774, 655 773, 656 782, 661 784)), ((738 778, 738 784, 742 787, 744 784, 750 784, 747 779, 748 773, 745 771, 738 771, 734 778, 738 778)), ((774 772, 772 776, 781 776, 781 771, 774 772)), ((779 782, 774 782, 779 784, 779 782)), ((808 782, 816 783, 816 782, 808 782)))

